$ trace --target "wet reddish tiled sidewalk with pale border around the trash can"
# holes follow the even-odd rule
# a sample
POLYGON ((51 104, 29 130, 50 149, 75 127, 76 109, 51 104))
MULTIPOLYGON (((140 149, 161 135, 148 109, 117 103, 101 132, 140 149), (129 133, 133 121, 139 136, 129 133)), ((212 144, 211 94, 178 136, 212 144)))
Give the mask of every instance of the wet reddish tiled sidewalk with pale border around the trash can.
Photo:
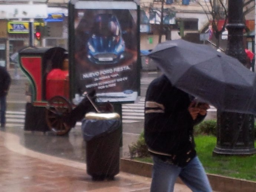
MULTIPOLYGON (((20 145, 19 136, 0 131, 1 192, 149 192, 151 179, 120 172, 114 181, 92 181, 86 164, 45 155, 20 145)), ((175 192, 190 192, 181 184, 175 192)))

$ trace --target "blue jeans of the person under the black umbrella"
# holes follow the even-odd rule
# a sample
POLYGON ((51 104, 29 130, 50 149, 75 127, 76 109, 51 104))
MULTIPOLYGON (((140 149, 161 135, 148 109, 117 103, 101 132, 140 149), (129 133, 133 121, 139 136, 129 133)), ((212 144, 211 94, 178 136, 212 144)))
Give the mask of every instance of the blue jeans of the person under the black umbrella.
POLYGON ((212 192, 203 165, 196 156, 184 168, 153 157, 150 192, 173 192, 178 176, 193 192, 212 192))

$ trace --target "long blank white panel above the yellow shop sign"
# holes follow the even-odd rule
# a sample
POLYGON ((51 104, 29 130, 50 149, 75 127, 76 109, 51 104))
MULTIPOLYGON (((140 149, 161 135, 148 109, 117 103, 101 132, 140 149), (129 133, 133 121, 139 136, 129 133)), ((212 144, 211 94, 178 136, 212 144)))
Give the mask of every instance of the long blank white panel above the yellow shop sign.
POLYGON ((9 4, 0 6, 0 19, 43 19, 47 17, 47 5, 9 4))

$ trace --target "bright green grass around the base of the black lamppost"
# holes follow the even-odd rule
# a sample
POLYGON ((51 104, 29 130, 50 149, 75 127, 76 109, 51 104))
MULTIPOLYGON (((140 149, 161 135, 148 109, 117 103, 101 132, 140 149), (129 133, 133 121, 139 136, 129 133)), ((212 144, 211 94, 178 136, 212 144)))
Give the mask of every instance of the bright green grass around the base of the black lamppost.
MULTIPOLYGON (((207 173, 256 181, 256 155, 212 156, 216 146, 214 136, 196 136, 196 150, 207 173)), ((255 145, 256 147, 256 145, 255 145)))

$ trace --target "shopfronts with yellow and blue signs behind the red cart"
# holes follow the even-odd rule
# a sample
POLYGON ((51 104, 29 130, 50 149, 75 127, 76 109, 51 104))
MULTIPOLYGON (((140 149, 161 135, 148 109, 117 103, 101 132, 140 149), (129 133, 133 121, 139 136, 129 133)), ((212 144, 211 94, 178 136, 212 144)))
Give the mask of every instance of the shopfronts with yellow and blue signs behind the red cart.
MULTIPOLYGON (((51 9, 49 9, 51 10, 51 9)), ((54 10, 55 11, 55 10, 54 10)), ((64 11, 65 12, 65 11, 64 11)), ((34 33, 37 26, 42 26, 40 39, 34 38, 33 46, 60 46, 68 48, 68 21, 67 14, 61 9, 58 13, 49 13, 46 19, 35 19, 33 22, 34 33)), ((29 20, 0 20, 0 66, 13 67, 10 60, 12 54, 20 49, 30 46, 29 20)))

